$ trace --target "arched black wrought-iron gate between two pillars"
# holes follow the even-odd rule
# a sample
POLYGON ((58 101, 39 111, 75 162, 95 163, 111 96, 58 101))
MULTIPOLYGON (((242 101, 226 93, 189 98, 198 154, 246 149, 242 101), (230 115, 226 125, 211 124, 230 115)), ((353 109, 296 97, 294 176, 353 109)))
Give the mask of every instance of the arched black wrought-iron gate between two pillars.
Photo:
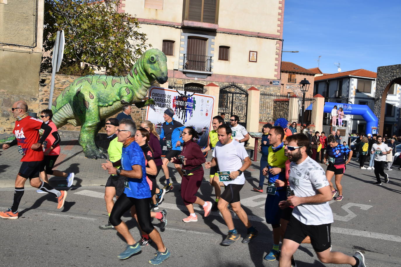
POLYGON ((220 87, 219 114, 226 114, 225 121, 229 122, 232 115, 239 117, 239 124, 247 126, 248 92, 235 83, 220 87))

